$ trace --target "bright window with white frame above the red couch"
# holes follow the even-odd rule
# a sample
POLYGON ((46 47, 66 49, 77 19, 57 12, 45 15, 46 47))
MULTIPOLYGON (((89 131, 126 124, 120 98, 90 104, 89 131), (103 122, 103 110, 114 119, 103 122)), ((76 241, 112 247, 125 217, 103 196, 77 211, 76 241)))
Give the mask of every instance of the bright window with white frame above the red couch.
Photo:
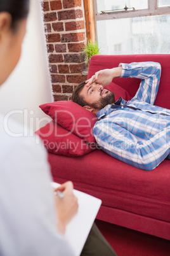
POLYGON ((170 0, 94 0, 94 10, 101 53, 170 53, 170 0))

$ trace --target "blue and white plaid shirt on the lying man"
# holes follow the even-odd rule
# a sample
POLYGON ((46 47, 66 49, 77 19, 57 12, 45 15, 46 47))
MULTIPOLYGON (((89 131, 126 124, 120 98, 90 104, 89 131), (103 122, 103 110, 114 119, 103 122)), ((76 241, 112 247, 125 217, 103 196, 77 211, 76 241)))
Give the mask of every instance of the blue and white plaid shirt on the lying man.
POLYGON ((156 62, 120 64, 121 77, 140 78, 136 95, 120 98, 96 113, 93 133, 100 148, 140 169, 152 170, 170 159, 170 110, 154 106, 161 67, 156 62))

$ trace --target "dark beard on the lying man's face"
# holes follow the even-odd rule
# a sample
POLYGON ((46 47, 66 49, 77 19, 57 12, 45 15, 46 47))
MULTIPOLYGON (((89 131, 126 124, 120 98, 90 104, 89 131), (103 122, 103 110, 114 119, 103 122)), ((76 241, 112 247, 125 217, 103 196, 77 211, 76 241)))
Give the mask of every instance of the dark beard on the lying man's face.
MULTIPOLYGON (((115 96, 113 92, 110 92, 110 90, 107 90, 105 92, 107 94, 105 97, 101 97, 98 101, 95 103, 91 103, 91 108, 95 108, 95 110, 102 110, 102 108, 105 108, 108 104, 113 104, 115 102, 115 96)), ((89 104, 88 104, 89 105, 89 104)))

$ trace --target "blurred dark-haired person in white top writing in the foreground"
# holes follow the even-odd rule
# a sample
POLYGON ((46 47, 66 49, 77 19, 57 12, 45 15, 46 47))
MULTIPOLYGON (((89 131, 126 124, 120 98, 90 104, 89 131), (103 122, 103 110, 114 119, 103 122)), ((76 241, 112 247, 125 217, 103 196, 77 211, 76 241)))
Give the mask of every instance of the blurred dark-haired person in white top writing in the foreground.
MULTIPOLYGON (((29 0, 0 0, 0 85, 20 59, 28 13, 29 0)), ((54 196, 42 145, 29 136, 8 135, 1 113, 0 119, 0 255, 74 255, 63 236, 78 209, 72 182, 57 188, 64 194, 62 199, 54 196)), ((20 131, 15 121, 13 127, 20 131)), ((115 253, 93 225, 81 255, 115 253)))

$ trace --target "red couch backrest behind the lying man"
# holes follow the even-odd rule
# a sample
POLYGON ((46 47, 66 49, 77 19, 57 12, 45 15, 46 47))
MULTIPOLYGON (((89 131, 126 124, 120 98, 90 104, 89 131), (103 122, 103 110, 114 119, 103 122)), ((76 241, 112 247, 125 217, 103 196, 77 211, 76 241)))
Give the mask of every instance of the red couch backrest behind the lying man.
MULTIPOLYGON (((170 109, 170 54, 93 55, 89 63, 88 78, 100 69, 114 68, 119 66, 121 62, 131 63, 141 61, 155 61, 160 63, 162 73, 155 105, 170 109)), ((140 85, 140 80, 136 78, 115 78, 114 82, 127 90, 131 97, 135 95, 140 85)))

